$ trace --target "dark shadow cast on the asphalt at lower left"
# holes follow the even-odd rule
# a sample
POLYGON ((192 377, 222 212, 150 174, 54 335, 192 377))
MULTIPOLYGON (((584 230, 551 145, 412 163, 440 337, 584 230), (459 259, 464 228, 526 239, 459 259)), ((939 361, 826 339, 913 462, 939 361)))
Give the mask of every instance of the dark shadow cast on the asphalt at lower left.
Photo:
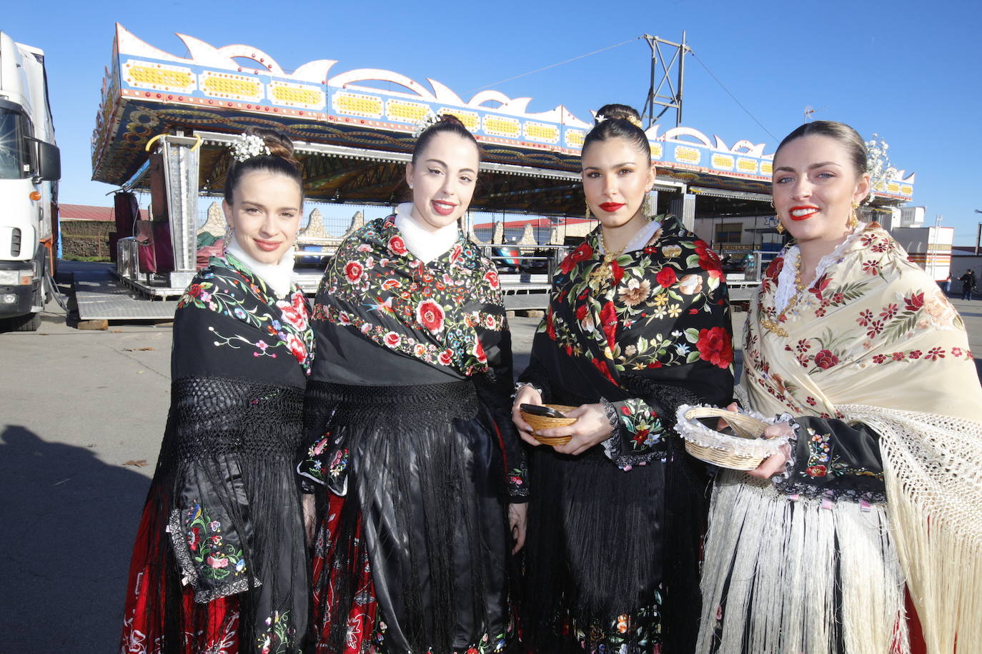
POLYGON ((5 652, 118 651, 149 479, 86 447, 0 433, 0 624, 5 652))

